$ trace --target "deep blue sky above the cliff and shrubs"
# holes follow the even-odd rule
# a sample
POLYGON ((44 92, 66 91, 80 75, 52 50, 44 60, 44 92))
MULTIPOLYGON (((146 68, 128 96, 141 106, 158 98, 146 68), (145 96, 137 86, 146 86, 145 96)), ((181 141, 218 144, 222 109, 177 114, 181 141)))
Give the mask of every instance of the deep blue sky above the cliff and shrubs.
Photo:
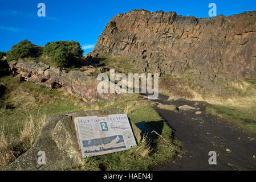
POLYGON ((105 24, 118 13, 146 9, 208 17, 209 3, 216 3, 217 15, 256 10, 255 0, 0 0, 0 51, 9 51, 24 39, 40 46, 56 40, 76 40, 87 53, 94 48, 105 24), (46 5, 46 17, 37 15, 38 3, 46 5))

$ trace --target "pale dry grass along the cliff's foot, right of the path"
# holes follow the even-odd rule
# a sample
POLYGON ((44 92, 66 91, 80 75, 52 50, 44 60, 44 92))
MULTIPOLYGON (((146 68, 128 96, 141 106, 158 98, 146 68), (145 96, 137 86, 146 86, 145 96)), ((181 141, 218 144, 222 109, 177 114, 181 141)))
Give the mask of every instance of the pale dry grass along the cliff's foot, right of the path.
POLYGON ((209 104, 226 105, 234 107, 254 107, 256 104, 256 86, 247 81, 230 82, 226 87, 231 92, 238 93, 238 96, 231 96, 224 99, 214 94, 202 94, 192 89, 186 78, 166 76, 160 78, 160 92, 168 95, 180 96, 193 101, 206 101, 209 104))

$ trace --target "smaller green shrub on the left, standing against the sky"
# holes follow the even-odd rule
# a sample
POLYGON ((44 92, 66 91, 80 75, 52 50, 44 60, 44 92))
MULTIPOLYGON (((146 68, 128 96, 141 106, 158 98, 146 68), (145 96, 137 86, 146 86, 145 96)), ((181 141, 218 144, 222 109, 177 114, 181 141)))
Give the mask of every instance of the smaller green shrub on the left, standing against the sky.
POLYGON ((28 57, 30 56, 32 49, 33 44, 29 40, 22 40, 18 44, 11 47, 11 50, 7 52, 7 61, 28 57))

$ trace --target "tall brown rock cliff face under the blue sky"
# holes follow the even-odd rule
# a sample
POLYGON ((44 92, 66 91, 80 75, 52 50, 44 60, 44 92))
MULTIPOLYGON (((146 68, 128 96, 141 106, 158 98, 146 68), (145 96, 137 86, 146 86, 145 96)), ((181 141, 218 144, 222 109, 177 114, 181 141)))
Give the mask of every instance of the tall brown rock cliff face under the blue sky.
POLYGON ((196 82, 255 77, 256 11, 213 18, 147 10, 117 14, 92 55, 135 59, 145 72, 190 72, 196 82))

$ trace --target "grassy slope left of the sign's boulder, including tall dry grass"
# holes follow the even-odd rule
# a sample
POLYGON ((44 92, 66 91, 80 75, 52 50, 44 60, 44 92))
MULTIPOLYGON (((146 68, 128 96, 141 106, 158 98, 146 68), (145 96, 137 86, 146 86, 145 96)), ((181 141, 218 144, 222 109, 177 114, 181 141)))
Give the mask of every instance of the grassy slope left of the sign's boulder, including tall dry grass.
POLYGON ((4 103, 0 109, 0 169, 31 147, 50 115, 84 109, 77 96, 17 80, 0 78, 0 85, 6 87, 0 98, 4 103))

